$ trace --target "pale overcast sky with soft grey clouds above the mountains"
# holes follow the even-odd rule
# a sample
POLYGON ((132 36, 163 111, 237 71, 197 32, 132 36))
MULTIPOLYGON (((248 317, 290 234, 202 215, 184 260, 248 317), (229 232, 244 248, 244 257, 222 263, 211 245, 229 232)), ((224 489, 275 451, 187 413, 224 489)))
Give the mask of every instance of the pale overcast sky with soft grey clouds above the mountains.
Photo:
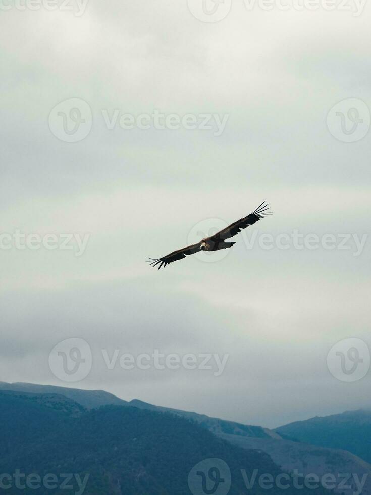
POLYGON ((267 427, 370 406, 370 7, 19 1, 0 0, 0 380, 267 427), (145 263, 263 200, 233 249, 145 263), (49 353, 70 338, 92 363, 78 379, 86 347, 60 344, 66 381, 49 353), (141 369, 156 350, 179 369, 141 369))

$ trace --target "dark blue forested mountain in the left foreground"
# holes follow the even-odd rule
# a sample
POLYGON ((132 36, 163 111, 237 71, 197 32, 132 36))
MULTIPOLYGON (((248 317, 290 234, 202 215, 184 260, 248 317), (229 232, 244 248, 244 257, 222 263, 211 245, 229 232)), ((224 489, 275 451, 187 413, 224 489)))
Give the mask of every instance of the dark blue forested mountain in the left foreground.
MULTIPOLYGON (((266 453, 232 445, 179 416, 126 405, 88 410, 56 395, 0 391, 0 473, 8 473, 2 474, 7 493, 188 495, 192 487, 201 495, 217 492, 207 483, 195 490, 201 478, 209 475, 215 488, 228 483, 230 470, 228 493, 242 495, 241 469, 249 479, 256 469, 272 477, 282 473, 266 453), (226 463, 227 470, 210 468, 215 462, 226 463), (63 486, 67 478, 68 491, 63 486), (25 488, 16 490, 17 482, 25 488)), ((295 492, 291 486, 285 490, 295 492)), ((262 495, 267 489, 255 483, 249 493, 262 495)))

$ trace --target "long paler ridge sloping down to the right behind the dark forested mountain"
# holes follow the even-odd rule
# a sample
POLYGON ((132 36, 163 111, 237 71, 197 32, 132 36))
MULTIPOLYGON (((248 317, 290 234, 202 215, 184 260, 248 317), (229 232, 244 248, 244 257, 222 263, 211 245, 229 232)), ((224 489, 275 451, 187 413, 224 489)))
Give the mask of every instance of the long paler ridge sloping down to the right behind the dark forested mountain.
MULTIPOLYGON (((20 388, 20 384, 6 385, 8 389, 12 387, 20 388)), ((67 391, 69 397, 72 397, 71 390, 73 390, 73 397, 80 405, 82 405, 82 402, 90 405, 93 403, 93 400, 88 397, 90 393, 98 404, 104 404, 106 400, 112 401, 112 397, 115 397, 104 391, 22 384, 22 389, 35 389, 33 387, 37 387, 36 389, 38 391, 54 391, 61 394, 67 391)), ((2 388, 2 384, 0 384, 0 388, 2 388)), ((116 399, 121 401, 121 399, 116 399)), ((338 449, 337 445, 329 445, 329 447, 335 448, 314 446, 308 443, 293 441, 292 435, 281 431, 281 428, 273 431, 260 426, 244 425, 218 418, 210 418, 194 412, 154 406, 137 399, 130 402, 121 401, 120 404, 124 407, 135 407, 143 411, 146 410, 157 414, 171 414, 178 418, 186 419, 188 422, 194 423, 198 427, 213 433, 213 435, 239 448, 255 449, 260 453, 269 455, 273 462, 277 466, 280 466, 284 472, 292 473, 294 469, 297 469, 303 475, 309 475, 310 473, 316 473, 319 476, 331 474, 337 479, 335 483, 337 487, 339 485, 341 486, 341 475, 343 473, 352 473, 354 476, 347 483, 348 488, 336 489, 336 493, 344 493, 345 495, 358 493, 355 476, 359 480, 362 480, 363 476, 366 476, 362 493, 363 495, 371 495, 371 476, 369 476, 371 474, 371 465, 350 452, 338 449)))

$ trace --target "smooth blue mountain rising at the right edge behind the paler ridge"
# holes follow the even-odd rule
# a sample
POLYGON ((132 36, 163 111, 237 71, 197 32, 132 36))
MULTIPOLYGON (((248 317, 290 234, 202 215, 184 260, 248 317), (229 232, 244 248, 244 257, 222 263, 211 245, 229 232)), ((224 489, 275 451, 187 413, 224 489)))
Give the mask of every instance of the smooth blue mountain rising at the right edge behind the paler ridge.
POLYGON ((300 442, 344 449, 371 463, 371 410, 359 409, 296 421, 275 431, 300 442))

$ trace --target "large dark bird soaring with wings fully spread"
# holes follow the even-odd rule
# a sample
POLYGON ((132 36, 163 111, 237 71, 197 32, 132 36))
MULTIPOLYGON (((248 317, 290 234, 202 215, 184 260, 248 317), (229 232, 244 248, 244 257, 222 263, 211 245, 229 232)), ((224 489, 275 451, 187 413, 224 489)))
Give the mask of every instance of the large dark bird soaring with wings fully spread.
POLYGON ((225 242, 226 239, 237 235, 241 232, 241 229, 245 229, 249 225, 253 225, 255 222, 260 220, 260 218, 266 217, 267 215, 271 215, 272 212, 269 211, 268 203, 263 201, 260 206, 256 208, 255 211, 247 215, 247 217, 240 218, 237 222, 231 223, 228 227, 217 232, 210 237, 205 237, 200 240, 197 244, 192 244, 187 246, 186 248, 178 249, 177 251, 173 251, 169 255, 163 256, 162 258, 149 258, 148 263, 155 267, 158 265, 158 270, 162 266, 164 268, 169 263, 173 263, 173 261, 182 260, 187 255, 193 255, 194 253, 198 253, 199 251, 218 251, 219 249, 232 248, 235 242, 225 242))

